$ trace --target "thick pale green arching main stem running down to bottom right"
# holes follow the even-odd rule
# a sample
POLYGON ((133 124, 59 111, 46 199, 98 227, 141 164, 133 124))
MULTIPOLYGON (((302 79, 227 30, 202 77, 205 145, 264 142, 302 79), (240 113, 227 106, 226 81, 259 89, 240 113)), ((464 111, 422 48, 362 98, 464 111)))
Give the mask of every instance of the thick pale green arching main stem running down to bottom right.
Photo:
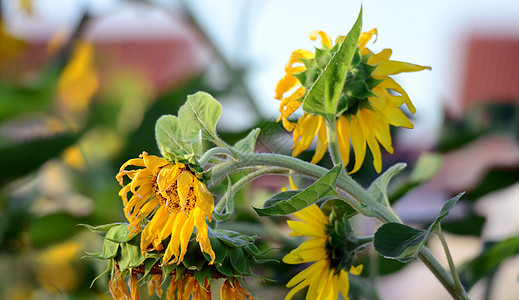
MULTIPOLYGON (((314 179, 321 178, 321 176, 329 171, 323 167, 310 164, 297 158, 278 154, 257 153, 241 155, 239 160, 229 161, 214 166, 212 170, 212 180, 214 182, 219 182, 225 178, 226 174, 232 173, 233 170, 250 166, 287 168, 293 170, 295 173, 309 176, 314 179)), ((402 223, 395 214, 393 214, 386 206, 379 203, 345 172, 341 172, 339 175, 337 187, 344 191, 344 193, 352 200, 358 201, 360 205, 363 205, 363 208, 366 208, 368 212, 372 212, 368 214, 368 216, 374 216, 384 223, 402 223)), ((424 247, 418 254, 418 258, 431 270, 454 299, 469 299, 463 290, 461 292, 456 291, 451 274, 441 266, 429 249, 424 247)))

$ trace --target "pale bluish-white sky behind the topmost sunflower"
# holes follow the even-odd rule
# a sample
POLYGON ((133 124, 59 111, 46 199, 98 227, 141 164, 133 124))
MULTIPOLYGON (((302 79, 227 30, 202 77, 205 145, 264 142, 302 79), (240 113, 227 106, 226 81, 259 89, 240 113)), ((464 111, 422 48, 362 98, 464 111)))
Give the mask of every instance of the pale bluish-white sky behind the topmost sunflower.
MULTIPOLYGON (((4 9, 9 12, 16 0, 4 2, 4 9)), ((116 0, 34 2, 37 5, 35 18, 7 14, 13 31, 26 36, 46 32, 48 35, 59 27, 73 26, 84 7, 100 17, 119 15, 120 22, 132 17, 131 13, 125 17, 125 10, 136 7, 139 13, 146 10, 145 6, 136 4, 121 6, 121 1, 116 0)), ((157 2, 172 9, 178 6, 176 1, 157 2)), ((231 62, 251 66, 248 83, 267 117, 277 116, 279 102, 273 99, 274 87, 283 76, 290 53, 318 46, 308 39, 312 30, 324 30, 332 39, 347 34, 361 3, 359 0, 185 2, 194 8, 197 19, 231 62)), ((363 2, 363 11, 363 30, 377 28, 379 32, 376 43, 368 44, 370 49, 377 52, 391 48, 392 59, 432 67, 432 71, 396 77, 418 110, 413 120, 415 130, 406 131, 403 137, 408 143, 423 136, 434 136, 441 122, 443 103, 454 103, 459 98, 458 81, 463 67, 461 46, 468 35, 485 31, 493 35, 519 36, 519 1, 516 0, 373 0, 363 2)), ((160 23, 167 22, 168 15, 153 12, 147 17, 150 22, 160 23)))

